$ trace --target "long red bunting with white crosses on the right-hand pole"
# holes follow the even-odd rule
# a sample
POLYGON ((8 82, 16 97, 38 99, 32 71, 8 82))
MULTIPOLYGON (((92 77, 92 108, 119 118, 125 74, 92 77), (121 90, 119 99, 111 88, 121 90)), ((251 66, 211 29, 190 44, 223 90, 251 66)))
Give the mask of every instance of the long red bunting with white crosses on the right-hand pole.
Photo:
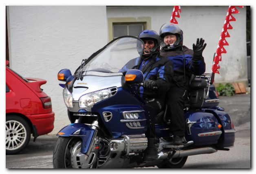
POLYGON ((226 37, 230 37, 230 34, 227 32, 227 29, 232 29, 233 27, 230 25, 230 21, 236 21, 236 19, 232 16, 232 13, 239 13, 236 7, 243 8, 244 6, 230 6, 227 10, 226 19, 224 21, 223 28, 221 30, 221 37, 218 42, 217 50, 215 52, 214 61, 212 64, 212 73, 218 73, 218 69, 220 69, 219 61, 221 61, 221 54, 227 53, 223 46, 228 46, 226 37))

